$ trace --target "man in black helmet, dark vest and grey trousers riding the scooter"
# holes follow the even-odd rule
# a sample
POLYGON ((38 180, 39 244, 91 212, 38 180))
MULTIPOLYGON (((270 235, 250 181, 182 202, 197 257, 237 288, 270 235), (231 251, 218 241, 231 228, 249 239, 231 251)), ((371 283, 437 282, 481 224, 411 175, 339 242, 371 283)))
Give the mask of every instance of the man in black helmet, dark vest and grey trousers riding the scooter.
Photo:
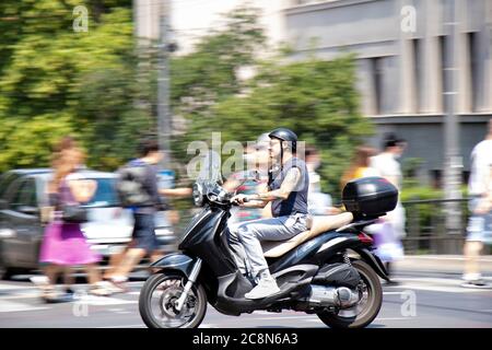
POLYGON ((236 265, 243 275, 255 278, 257 285, 245 294, 256 300, 280 291, 270 275, 260 241, 285 241, 309 229, 306 164, 297 159, 297 136, 290 129, 278 128, 269 133, 268 191, 237 195, 231 200, 244 207, 262 208, 271 201, 272 218, 243 222, 229 228, 229 242, 236 265))

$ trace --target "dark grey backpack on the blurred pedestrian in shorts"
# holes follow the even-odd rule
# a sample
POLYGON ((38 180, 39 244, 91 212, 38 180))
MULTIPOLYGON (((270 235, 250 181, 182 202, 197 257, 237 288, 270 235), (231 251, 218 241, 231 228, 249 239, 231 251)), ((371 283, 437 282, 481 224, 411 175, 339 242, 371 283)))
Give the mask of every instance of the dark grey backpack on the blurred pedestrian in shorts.
POLYGON ((118 192, 121 207, 149 207, 154 200, 144 187, 144 179, 148 168, 145 165, 127 164, 117 174, 116 190, 118 192))

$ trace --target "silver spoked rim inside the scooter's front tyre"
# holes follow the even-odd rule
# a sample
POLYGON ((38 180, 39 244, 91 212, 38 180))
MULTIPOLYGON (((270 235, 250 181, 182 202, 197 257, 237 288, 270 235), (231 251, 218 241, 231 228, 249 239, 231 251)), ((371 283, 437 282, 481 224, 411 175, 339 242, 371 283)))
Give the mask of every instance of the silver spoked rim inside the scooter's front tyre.
POLYGON ((188 296, 180 312, 176 310, 175 302, 185 288, 185 281, 178 277, 166 277, 157 283, 150 293, 150 312, 152 318, 163 328, 187 327, 199 314, 199 298, 195 290, 188 296))

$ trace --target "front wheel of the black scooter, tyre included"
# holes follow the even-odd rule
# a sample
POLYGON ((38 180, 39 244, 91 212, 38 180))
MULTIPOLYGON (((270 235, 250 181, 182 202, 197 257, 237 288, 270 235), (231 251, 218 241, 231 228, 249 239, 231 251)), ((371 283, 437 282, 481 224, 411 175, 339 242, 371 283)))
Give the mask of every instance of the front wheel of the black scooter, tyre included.
POLYGON ((207 312, 207 294, 195 283, 178 312, 176 301, 181 295, 186 278, 178 273, 155 273, 142 287, 140 316, 149 328, 196 328, 207 312))

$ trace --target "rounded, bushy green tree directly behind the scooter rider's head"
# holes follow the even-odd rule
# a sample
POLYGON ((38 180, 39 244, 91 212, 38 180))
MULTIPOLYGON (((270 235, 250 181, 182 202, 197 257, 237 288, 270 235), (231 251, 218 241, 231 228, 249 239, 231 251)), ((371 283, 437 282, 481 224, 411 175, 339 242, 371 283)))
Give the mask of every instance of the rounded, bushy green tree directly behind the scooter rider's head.
POLYGON ((255 140, 280 126, 291 128, 321 151, 323 188, 338 197, 354 148, 372 132, 359 113, 354 63, 352 56, 343 56, 263 65, 248 94, 231 96, 213 108, 208 128, 221 130, 225 141, 255 140))

